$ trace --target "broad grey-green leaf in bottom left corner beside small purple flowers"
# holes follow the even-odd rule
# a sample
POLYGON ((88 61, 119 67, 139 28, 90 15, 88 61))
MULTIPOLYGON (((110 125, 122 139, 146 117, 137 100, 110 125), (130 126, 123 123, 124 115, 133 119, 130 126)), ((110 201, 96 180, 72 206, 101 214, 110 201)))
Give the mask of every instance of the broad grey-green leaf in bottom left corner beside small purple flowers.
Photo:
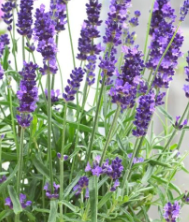
POLYGON ((20 201, 18 198, 18 194, 16 193, 15 189, 13 186, 8 186, 8 193, 9 196, 11 198, 11 201, 13 203, 13 211, 15 214, 19 214, 23 211, 21 205, 20 205, 20 201))

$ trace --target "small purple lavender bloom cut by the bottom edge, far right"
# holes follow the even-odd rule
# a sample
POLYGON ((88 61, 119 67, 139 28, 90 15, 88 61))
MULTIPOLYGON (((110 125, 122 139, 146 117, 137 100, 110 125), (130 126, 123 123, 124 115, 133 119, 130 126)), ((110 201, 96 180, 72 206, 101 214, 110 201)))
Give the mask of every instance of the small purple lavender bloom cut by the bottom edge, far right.
POLYGON ((167 222, 176 222, 176 219, 179 217, 180 205, 178 201, 175 201, 174 204, 168 202, 164 207, 164 218, 167 222))

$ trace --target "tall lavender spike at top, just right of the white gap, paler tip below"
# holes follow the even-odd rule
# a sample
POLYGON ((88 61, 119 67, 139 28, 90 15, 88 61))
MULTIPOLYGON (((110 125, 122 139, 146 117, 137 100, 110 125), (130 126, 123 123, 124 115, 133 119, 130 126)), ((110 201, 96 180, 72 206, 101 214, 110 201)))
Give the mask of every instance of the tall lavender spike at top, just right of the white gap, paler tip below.
POLYGON ((95 39, 100 37, 98 26, 102 23, 100 20, 101 6, 98 0, 89 0, 89 3, 86 4, 87 19, 82 25, 81 37, 79 38, 79 54, 77 58, 88 62, 85 69, 88 85, 92 85, 95 82, 96 60, 101 51, 100 45, 94 43, 95 39))

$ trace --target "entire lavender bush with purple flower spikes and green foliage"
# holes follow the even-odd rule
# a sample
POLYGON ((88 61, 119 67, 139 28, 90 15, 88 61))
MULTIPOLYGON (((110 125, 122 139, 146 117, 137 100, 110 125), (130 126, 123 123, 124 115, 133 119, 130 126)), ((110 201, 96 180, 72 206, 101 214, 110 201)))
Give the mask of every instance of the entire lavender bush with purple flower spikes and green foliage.
MULTIPOLYGON (((77 53, 69 0, 50 0, 35 11, 34 0, 0 3, 7 26, 0 36, 0 221, 181 221, 189 193, 174 179, 178 171, 189 173, 183 164, 189 153, 179 152, 189 102, 177 117, 166 107, 183 56, 180 25, 189 0, 179 17, 169 0, 151 1, 144 51, 135 43, 142 15, 130 13, 132 0, 110 0, 105 21, 100 0, 88 0, 77 53), (69 34, 74 67, 66 84, 61 32, 69 34), (151 206, 159 219, 150 218, 151 206)), ((189 98, 189 52, 182 69, 182 96, 189 98)))

